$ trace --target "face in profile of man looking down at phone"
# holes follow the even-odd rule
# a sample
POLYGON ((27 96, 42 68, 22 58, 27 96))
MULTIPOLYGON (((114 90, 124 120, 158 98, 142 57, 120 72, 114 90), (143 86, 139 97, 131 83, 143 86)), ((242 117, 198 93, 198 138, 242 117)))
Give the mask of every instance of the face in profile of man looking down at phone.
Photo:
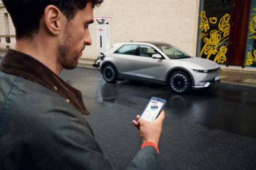
POLYGON ((58 61, 63 68, 74 69, 78 64, 78 59, 83 54, 85 46, 92 45, 88 29, 92 22, 92 3, 88 3, 83 10, 77 10, 75 17, 67 21, 58 46, 58 61))

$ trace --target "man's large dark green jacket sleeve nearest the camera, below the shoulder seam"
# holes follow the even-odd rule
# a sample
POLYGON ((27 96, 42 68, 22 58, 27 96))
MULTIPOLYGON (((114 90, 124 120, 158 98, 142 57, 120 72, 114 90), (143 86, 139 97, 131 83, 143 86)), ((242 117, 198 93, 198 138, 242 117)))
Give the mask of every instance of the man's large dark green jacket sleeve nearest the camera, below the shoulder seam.
POLYGON ((28 83, 13 87, 0 114, 0 169, 113 169, 84 116, 28 83))

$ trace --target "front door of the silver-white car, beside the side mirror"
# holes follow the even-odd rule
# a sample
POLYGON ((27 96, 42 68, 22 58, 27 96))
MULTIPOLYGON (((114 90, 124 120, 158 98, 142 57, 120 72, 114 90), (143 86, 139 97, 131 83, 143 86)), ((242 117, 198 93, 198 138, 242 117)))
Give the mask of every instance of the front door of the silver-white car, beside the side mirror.
MULTIPOLYGON (((140 45, 136 56, 136 76, 151 80, 164 81, 165 59, 153 59, 154 53, 159 53, 152 46, 140 45)), ((160 54, 160 53, 159 53, 160 54)))

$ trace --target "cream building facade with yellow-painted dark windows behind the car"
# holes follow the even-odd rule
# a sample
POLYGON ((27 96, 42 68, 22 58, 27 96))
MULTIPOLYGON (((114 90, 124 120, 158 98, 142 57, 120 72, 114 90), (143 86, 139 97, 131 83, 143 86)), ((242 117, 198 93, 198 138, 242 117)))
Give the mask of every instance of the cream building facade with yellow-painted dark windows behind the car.
MULTIPOLYGON (((163 41, 223 66, 256 70, 256 0, 105 0, 94 15, 112 18, 111 44, 163 41)), ((97 57, 96 26, 81 62, 97 57)), ((13 48, 15 30, 1 1, 0 38, 0 48, 13 48)))

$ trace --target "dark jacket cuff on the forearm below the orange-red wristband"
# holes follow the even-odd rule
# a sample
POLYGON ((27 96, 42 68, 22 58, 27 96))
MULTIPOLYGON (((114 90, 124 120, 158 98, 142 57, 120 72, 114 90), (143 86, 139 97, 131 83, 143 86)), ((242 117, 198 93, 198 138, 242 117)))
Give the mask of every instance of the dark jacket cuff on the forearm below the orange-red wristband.
POLYGON ((152 146, 146 146, 141 149, 132 160, 131 164, 127 167, 127 170, 135 169, 158 169, 159 154, 152 146))

